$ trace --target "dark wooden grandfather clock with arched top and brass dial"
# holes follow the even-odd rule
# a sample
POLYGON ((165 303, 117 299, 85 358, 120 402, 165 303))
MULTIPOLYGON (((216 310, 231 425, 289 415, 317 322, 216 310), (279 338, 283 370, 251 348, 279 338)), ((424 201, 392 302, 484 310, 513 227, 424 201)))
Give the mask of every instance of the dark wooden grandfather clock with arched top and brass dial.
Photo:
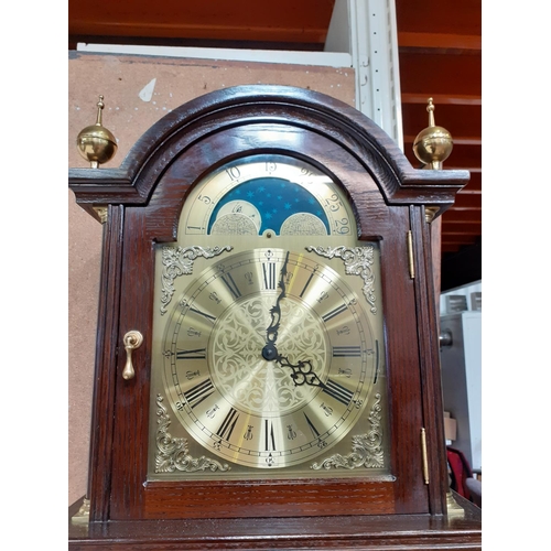
POLYGON ((449 491, 430 244, 468 173, 281 86, 181 106, 119 169, 97 168, 100 117, 79 144, 104 247, 69 548, 478 549, 449 491))

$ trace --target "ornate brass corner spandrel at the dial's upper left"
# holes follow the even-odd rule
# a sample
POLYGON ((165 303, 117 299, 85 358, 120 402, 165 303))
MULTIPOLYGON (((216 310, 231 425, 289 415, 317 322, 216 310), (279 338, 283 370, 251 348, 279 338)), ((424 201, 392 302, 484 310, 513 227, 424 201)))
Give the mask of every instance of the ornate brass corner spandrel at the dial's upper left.
POLYGON ((174 294, 174 280, 180 276, 190 276, 193 273, 193 261, 198 257, 214 258, 224 251, 230 251, 233 247, 163 247, 163 287, 161 296, 161 315, 166 313, 166 306, 174 294))

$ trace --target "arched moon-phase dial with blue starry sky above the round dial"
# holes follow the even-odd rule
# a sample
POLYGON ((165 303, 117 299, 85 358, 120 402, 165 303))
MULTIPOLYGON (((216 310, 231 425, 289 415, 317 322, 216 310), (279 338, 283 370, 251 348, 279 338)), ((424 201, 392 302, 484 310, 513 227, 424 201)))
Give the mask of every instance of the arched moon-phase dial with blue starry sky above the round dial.
POLYGON ((354 214, 335 183, 289 155, 225 164, 192 191, 182 236, 354 236, 354 214))

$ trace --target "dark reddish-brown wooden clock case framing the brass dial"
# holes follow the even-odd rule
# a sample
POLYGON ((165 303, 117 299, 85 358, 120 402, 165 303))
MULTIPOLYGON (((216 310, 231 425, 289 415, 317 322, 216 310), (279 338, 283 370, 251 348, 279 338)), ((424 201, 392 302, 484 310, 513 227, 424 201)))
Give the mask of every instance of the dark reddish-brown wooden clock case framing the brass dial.
MULTIPOLYGON (((108 209, 93 406, 90 525, 87 536, 73 536, 73 548, 91 540, 125 548, 131 544, 129 527, 141 534, 136 536, 140 541, 162 540, 155 519, 172 519, 169 531, 181 533, 172 541, 191 544, 193 531, 184 536, 179 529, 188 528, 185 519, 218 518, 210 531, 205 527, 204 543, 229 549, 229 541, 242 547, 250 538, 261 538, 260 526, 250 520, 250 530, 239 536, 231 518, 302 517, 304 530, 315 537, 315 517, 328 516, 326 539, 318 534, 327 547, 337 532, 341 543, 335 539, 335 547, 352 542, 353 526, 371 533, 366 547, 383 545, 382 533, 401 526, 409 533, 417 530, 420 538, 446 541, 451 549, 467 540, 475 542, 467 549, 475 549, 476 514, 461 529, 445 517, 439 332, 425 217, 425 207, 440 215, 451 206, 467 180, 465 171, 414 170, 395 142, 352 107, 280 86, 244 86, 197 98, 145 132, 119 169, 72 170, 69 185, 78 204, 95 217, 97 207, 108 209), (380 242, 393 482, 361 478, 365 473, 354 479, 323 480, 147 480, 153 244, 175 240, 180 212, 199 177, 227 160, 259 152, 294 154, 323 168, 347 191, 359 238, 380 242), (131 329, 139 329, 144 339, 132 353, 136 377, 123 380, 122 337, 131 329), (436 531, 431 532, 426 518, 440 519, 436 531)), ((287 526, 270 539, 271 548, 300 543, 293 540, 293 522, 287 526)), ((173 548, 161 542, 158 549, 173 548)))

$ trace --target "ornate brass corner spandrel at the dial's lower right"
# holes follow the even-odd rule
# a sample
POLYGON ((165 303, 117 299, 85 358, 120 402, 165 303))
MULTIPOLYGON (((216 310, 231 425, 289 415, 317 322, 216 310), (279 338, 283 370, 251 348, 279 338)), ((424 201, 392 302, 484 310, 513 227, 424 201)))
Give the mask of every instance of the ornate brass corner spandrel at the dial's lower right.
POLYGON ((312 464, 311 468, 382 468, 385 467, 385 453, 382 451, 381 407, 379 393, 375 395, 375 403, 369 413, 371 430, 367 434, 352 437, 352 453, 341 455, 339 453, 323 460, 321 463, 312 464))

